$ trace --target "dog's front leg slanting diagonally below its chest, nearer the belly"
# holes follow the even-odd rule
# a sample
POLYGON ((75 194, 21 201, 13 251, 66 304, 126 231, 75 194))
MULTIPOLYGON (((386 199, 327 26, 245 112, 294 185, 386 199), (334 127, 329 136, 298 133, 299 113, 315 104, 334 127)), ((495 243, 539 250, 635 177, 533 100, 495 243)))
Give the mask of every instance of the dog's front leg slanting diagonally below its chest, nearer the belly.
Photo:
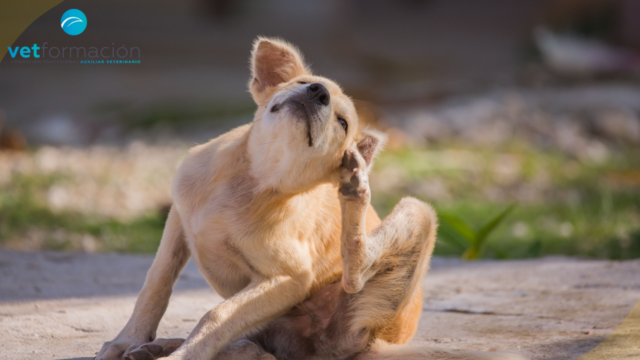
POLYGON ((187 341, 167 359, 210 360, 230 341, 285 313, 304 300, 309 274, 278 275, 252 281, 200 319, 187 341))

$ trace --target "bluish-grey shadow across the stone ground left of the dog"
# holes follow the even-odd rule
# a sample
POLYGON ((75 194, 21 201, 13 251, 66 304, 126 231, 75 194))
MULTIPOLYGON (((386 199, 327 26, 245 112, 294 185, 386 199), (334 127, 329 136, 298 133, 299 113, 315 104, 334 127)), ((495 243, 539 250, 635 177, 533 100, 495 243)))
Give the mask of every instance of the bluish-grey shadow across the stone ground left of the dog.
MULTIPOLYGON (((0 250, 0 302, 136 295, 153 262, 148 255, 0 250)), ((175 290, 209 288, 193 259, 175 290)))

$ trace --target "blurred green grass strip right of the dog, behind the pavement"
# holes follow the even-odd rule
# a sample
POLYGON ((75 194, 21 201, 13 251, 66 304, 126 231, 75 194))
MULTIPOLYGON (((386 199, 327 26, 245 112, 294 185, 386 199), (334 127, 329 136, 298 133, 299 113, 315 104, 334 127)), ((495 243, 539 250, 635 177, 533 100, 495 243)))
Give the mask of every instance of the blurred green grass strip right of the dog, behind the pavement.
MULTIPOLYGON (((604 161, 580 161, 519 143, 500 150, 453 143, 387 151, 372 179, 372 204, 384 216, 401 197, 413 195, 477 230, 515 202, 486 240, 483 258, 640 258, 637 155, 620 149, 604 161)), ((465 251, 443 240, 438 238, 436 255, 465 251)))

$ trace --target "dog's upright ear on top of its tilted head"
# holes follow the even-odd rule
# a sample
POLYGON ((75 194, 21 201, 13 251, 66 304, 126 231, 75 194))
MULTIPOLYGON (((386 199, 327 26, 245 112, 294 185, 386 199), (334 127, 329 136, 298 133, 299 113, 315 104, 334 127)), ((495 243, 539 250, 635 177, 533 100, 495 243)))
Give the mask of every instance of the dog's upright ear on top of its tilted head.
POLYGON ((263 37, 253 42, 251 72, 249 90, 258 105, 266 102, 269 90, 274 86, 309 73, 294 45, 284 40, 263 37))

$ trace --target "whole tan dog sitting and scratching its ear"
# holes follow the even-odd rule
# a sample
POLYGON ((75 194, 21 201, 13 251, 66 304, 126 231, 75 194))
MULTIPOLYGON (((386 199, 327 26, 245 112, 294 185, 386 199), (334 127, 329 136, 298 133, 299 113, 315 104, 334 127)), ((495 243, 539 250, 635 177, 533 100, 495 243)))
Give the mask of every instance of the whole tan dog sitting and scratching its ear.
POLYGON ((189 152, 133 315, 96 359, 521 359, 396 345, 420 317, 433 209, 405 198, 380 221, 368 173, 384 136, 358 131, 294 47, 259 38, 252 70, 255 120, 189 152), (186 341, 154 341, 190 256, 226 300, 186 341))

